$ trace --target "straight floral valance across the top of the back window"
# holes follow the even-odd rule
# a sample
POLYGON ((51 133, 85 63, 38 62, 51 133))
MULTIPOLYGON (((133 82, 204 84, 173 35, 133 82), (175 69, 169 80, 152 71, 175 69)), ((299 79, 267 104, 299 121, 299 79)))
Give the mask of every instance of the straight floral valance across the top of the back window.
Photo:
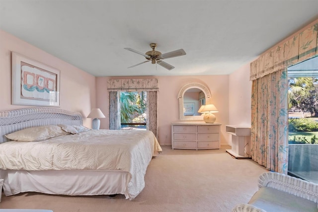
POLYGON ((107 80, 108 91, 159 91, 158 79, 107 80))

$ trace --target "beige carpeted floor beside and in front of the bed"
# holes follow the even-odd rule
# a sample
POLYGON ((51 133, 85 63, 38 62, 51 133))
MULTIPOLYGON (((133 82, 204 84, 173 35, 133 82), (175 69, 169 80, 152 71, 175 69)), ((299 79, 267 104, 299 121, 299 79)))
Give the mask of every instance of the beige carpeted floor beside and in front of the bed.
POLYGON ((123 195, 69 197, 2 194, 0 209, 50 209, 54 212, 229 212, 257 191, 267 170, 251 159, 234 159, 218 150, 172 150, 162 146, 145 176, 144 190, 132 201, 123 195))

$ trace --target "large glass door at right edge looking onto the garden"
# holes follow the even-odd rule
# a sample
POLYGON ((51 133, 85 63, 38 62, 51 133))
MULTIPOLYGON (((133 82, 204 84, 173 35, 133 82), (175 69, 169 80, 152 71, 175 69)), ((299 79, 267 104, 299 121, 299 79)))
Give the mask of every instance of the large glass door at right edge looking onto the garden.
POLYGON ((288 68, 288 174, 318 183, 318 57, 288 68))

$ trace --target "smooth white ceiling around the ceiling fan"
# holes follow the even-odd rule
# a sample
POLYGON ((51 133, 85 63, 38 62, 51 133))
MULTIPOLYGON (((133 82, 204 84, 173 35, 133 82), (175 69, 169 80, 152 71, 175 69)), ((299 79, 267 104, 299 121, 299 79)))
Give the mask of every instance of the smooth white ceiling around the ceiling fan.
POLYGON ((0 0, 2 30, 94 76, 230 74, 316 18, 318 0, 0 0), (153 42, 187 54, 127 69, 153 42))

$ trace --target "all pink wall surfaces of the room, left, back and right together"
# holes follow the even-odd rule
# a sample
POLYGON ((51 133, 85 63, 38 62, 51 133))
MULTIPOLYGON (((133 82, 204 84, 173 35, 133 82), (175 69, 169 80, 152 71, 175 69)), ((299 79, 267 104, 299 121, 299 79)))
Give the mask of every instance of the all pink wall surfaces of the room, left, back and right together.
MULTIPOLYGON (((107 79, 125 78, 157 78, 159 80, 159 142, 161 145, 171 145, 171 122, 179 119, 177 94, 187 83, 201 83, 210 89, 212 103, 220 110, 215 115, 217 122, 222 124, 221 144, 231 142, 228 133, 225 132, 226 124, 239 124, 239 121, 250 122, 250 115, 247 116, 250 113, 250 82, 247 77, 249 66, 243 67, 232 75, 95 78, 2 30, 0 30, 0 110, 28 107, 11 105, 11 51, 60 70, 61 108, 79 111, 84 117, 89 114, 91 108, 100 108, 107 116, 101 118, 102 129, 108 129, 109 126, 107 79), (237 93, 240 95, 236 95, 237 93)), ((84 125, 90 127, 91 119, 84 118, 84 125)))

